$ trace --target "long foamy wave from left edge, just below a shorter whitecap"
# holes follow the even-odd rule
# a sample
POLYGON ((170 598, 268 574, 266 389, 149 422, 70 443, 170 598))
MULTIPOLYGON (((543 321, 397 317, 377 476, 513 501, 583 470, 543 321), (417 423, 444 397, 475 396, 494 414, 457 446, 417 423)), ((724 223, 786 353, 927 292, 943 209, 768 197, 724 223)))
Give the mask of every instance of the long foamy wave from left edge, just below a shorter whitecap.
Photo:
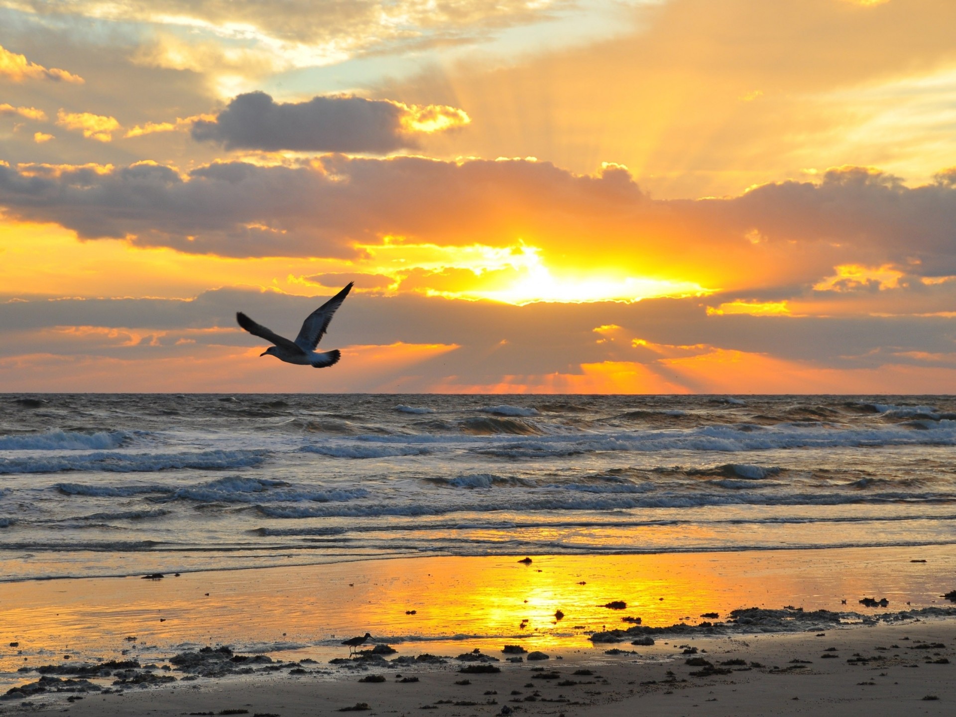
POLYGON ((264 450, 204 450, 195 453, 114 453, 0 458, 0 474, 101 470, 115 473, 155 472, 174 468, 239 468, 258 466, 264 450))

